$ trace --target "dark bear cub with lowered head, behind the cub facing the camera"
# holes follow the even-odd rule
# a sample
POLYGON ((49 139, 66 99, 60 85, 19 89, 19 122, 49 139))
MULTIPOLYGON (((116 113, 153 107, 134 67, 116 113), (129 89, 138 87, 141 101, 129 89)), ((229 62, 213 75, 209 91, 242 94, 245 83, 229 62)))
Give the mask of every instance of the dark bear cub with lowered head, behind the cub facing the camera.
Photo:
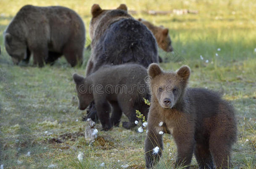
POLYGON ((147 116, 149 106, 143 100, 150 96, 146 76, 146 68, 138 64, 105 65, 86 78, 75 73, 78 107, 84 110, 94 100, 103 130, 118 126, 123 112, 129 119, 129 122, 123 122, 123 127, 130 129, 138 120, 136 110, 147 116))

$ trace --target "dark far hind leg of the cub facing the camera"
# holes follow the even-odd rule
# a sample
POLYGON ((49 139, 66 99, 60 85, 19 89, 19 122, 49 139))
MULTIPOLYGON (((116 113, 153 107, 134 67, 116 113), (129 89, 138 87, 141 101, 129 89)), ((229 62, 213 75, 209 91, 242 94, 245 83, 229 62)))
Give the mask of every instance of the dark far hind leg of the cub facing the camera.
POLYGON ((214 169, 209 145, 196 144, 194 154, 196 156, 196 161, 199 165, 199 169, 214 169))

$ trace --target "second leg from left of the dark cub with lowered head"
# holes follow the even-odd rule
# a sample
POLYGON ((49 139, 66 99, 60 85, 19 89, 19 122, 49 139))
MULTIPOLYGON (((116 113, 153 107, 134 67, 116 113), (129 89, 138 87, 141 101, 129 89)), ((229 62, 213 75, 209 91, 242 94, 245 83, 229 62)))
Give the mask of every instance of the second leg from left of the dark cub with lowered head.
POLYGON ((111 124, 114 126, 118 126, 122 116, 122 110, 119 107, 118 102, 111 101, 110 104, 112 106, 112 114, 110 118, 111 124))

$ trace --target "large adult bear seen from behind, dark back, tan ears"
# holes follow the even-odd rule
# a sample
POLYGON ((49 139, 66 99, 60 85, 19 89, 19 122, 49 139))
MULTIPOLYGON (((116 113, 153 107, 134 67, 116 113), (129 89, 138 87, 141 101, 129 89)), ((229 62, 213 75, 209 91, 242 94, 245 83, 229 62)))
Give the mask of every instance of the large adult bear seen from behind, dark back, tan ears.
POLYGON ((158 63, 157 42, 146 26, 127 13, 125 4, 115 10, 91 7, 91 57, 86 76, 105 64, 158 63))

